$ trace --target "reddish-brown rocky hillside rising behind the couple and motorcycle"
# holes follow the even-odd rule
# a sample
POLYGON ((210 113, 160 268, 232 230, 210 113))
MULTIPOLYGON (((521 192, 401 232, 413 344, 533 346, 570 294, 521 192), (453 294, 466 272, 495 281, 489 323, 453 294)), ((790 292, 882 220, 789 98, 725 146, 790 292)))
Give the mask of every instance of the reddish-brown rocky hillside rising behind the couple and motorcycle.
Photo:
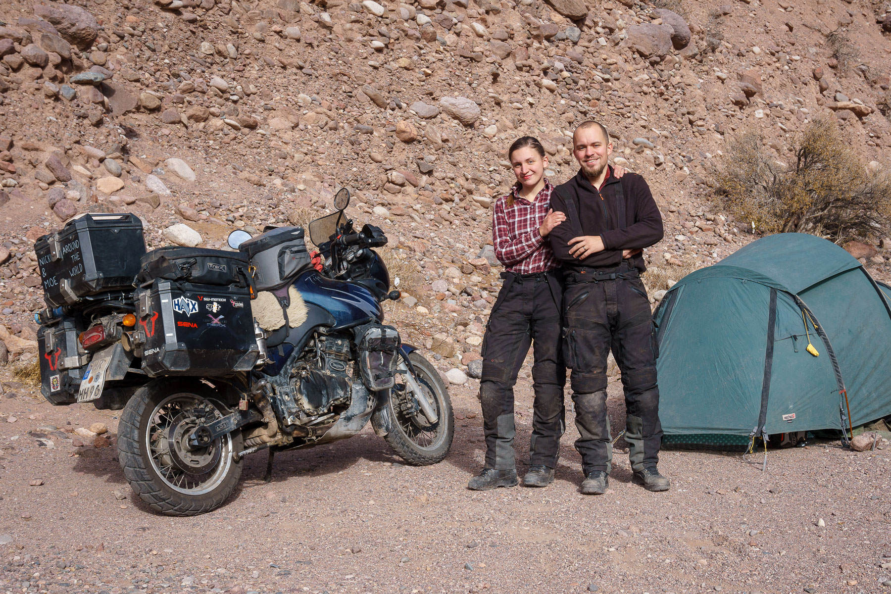
MULTIPOLYGON (((539 137, 562 182, 576 170, 572 128, 601 119, 616 162, 644 175, 663 209, 666 240, 647 257, 664 282, 751 239, 745 222, 709 207, 714 161, 734 130, 757 126, 767 150, 789 159, 797 131, 834 113, 854 150, 884 165, 886 8, 5 0, 7 346, 34 356, 32 243, 70 216, 134 212, 150 248, 219 247, 234 228, 322 214, 347 186, 353 216, 390 237, 405 290, 391 318, 443 370, 466 370, 499 286, 488 207, 511 185, 514 138, 539 137)), ((885 273, 881 252, 864 256, 885 273)))

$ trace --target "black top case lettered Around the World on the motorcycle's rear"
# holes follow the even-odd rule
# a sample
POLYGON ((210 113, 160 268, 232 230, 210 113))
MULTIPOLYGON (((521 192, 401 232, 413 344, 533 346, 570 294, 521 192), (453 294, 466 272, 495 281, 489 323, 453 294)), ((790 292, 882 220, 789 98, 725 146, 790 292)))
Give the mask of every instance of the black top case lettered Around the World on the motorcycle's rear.
POLYGON ((130 289, 145 253, 143 222, 127 214, 87 214, 34 242, 47 305, 130 289))

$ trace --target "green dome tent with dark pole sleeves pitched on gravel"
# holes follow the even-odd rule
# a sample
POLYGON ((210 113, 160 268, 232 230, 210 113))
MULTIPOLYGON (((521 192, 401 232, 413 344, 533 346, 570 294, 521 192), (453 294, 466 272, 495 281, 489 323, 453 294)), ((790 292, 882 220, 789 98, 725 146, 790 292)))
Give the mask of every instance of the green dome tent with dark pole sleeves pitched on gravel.
POLYGON ((685 276, 654 317, 666 443, 817 429, 844 436, 891 414, 888 297, 830 241, 754 241, 685 276))

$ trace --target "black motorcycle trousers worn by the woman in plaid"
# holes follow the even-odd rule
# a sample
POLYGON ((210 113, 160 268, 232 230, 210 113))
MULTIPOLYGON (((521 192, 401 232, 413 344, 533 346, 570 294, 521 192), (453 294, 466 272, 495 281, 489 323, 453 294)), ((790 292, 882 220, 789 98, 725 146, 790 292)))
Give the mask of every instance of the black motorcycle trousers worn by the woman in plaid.
POLYGON ((535 361, 535 403, 529 463, 555 468, 560 436, 566 427, 563 386, 566 368, 560 354, 560 294, 553 273, 506 273, 480 353, 483 373, 479 395, 486 436, 486 468, 516 468, 513 453, 514 396, 519 368, 531 343, 535 361))

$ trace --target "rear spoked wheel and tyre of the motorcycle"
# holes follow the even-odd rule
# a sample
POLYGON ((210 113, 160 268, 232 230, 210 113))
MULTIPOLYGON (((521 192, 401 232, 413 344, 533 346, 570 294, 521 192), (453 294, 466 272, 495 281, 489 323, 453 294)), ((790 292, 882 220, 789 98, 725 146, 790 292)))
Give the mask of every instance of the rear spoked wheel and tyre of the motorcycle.
POLYGON ((140 499, 167 516, 196 516, 223 505, 241 476, 243 460, 233 460, 243 449, 241 431, 203 448, 189 447, 187 437, 197 415, 219 419, 230 412, 199 381, 159 379, 139 388, 120 417, 118 458, 140 499))

